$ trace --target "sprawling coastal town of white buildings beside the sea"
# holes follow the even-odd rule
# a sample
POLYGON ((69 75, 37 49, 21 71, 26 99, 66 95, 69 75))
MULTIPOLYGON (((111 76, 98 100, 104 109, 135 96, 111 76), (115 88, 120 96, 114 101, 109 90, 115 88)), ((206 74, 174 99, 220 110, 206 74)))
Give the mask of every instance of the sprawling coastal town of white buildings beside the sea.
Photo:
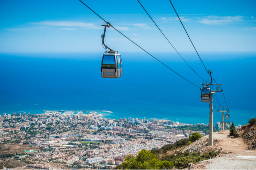
MULTIPOLYGON (((157 149, 194 132, 206 135, 204 131, 180 130, 187 126, 208 128, 145 117, 108 119, 96 111, 4 113, 0 116, 1 144, 21 144, 28 149, 4 156, 1 148, 0 154, 23 161, 30 169, 112 169, 140 150, 157 149)), ((219 127, 219 122, 215 126, 219 127)))

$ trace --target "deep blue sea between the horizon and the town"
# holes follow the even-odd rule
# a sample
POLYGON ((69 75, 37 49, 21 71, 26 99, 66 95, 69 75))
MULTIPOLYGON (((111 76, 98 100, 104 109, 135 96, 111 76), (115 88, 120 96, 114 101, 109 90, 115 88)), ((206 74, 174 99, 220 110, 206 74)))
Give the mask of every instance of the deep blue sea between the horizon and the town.
MULTIPOLYGON (((204 81, 175 53, 152 52, 181 76, 143 52, 123 52, 122 76, 102 78, 102 53, 0 54, 0 114, 44 113, 44 110, 104 110, 112 119, 157 118, 182 123, 209 122, 209 103, 201 102, 204 81)), ((210 81, 195 53, 181 54, 210 81)), ((256 54, 200 53, 223 93, 213 97, 215 108, 230 107, 230 121, 246 124, 256 116, 256 54), (226 102, 224 100, 224 96, 226 102), (219 103, 219 104, 218 104, 219 103)), ((221 113, 214 108, 213 122, 221 113)))

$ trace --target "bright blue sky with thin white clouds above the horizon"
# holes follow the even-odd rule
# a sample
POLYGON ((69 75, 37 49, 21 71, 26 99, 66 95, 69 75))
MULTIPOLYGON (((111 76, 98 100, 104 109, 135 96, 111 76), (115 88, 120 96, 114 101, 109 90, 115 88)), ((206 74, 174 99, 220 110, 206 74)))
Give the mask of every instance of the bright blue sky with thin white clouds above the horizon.
MULTIPOLYGON (((106 21, 147 51, 174 51, 137 0, 84 0, 106 21)), ((140 0, 177 51, 194 51, 169 0, 140 0)), ((256 52, 256 1, 173 0, 199 52, 256 52)), ((0 53, 104 51, 105 24, 79 0, 1 0, 0 53)), ((117 31, 105 43, 141 51, 117 31)))

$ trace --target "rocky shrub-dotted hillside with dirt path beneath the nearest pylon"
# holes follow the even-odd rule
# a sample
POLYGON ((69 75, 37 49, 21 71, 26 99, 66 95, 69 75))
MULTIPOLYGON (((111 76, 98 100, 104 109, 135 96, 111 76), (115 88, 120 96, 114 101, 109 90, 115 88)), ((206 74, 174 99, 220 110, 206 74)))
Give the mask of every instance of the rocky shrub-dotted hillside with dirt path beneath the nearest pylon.
MULTIPOLYGON (((238 138, 229 137, 229 130, 213 133, 213 146, 208 146, 207 135, 188 146, 189 139, 183 139, 152 152, 162 161, 176 161, 176 165, 179 156, 183 157, 179 161, 183 161, 186 169, 255 169, 256 125, 244 125, 237 133, 238 138), (212 159, 207 158, 208 154, 213 155, 212 159)), ((182 169, 181 166, 174 168, 182 169)))

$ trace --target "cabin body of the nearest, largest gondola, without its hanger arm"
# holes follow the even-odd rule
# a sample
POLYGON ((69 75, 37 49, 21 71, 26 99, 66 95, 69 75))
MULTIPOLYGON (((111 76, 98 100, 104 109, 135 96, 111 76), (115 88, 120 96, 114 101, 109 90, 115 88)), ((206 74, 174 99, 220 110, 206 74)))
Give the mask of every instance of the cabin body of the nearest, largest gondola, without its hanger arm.
POLYGON ((117 78, 122 74, 122 59, 120 54, 104 54, 102 57, 102 77, 117 78))

